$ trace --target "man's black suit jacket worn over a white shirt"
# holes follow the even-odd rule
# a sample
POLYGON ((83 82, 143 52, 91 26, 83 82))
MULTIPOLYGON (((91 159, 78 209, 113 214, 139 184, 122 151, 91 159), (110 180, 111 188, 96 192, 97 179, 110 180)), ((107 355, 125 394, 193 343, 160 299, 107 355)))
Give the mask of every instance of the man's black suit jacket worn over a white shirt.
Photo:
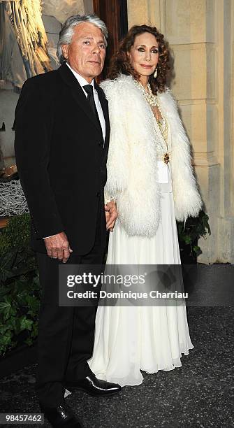
POLYGON ((38 252, 46 252, 43 237, 61 231, 73 254, 85 255, 94 245, 110 135, 108 101, 95 87, 105 117, 104 148, 89 101, 65 63, 28 79, 22 88, 15 110, 15 157, 38 252))

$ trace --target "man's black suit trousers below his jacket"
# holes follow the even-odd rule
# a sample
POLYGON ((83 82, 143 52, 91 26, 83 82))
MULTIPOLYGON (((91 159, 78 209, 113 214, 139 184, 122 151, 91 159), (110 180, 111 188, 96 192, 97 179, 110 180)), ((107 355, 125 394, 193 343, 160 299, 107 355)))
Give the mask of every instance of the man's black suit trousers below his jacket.
MULTIPOLYGON (((84 256, 73 255, 67 264, 102 264, 106 245, 105 212, 98 210, 94 247, 84 256)), ((37 253, 43 296, 38 324, 36 390, 43 406, 64 401, 66 380, 89 376, 96 308, 59 306, 59 260, 37 253)))

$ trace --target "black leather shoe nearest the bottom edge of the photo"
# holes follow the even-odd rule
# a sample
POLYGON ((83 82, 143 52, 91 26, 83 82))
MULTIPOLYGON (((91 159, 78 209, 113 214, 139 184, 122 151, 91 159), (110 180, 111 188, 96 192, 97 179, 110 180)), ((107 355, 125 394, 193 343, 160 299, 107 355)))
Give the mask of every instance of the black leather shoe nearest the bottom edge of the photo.
POLYGON ((75 413, 65 403, 57 407, 44 407, 41 405, 41 412, 44 413, 45 418, 52 427, 84 428, 75 413))

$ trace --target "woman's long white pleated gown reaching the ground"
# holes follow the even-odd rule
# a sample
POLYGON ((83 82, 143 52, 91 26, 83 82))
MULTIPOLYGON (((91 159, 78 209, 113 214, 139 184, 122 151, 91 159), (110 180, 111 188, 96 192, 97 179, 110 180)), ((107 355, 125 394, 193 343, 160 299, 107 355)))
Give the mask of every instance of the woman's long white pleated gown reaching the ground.
MULTIPOLYGON (((170 138, 168 146, 170 151, 170 138)), ((110 233, 107 264, 181 263, 170 162, 159 164, 162 200, 156 236, 128 236, 117 221, 110 233)), ((98 378, 121 386, 140 385, 141 371, 156 373, 180 367, 182 353, 188 355, 192 348, 185 304, 98 306, 89 366, 98 378)))

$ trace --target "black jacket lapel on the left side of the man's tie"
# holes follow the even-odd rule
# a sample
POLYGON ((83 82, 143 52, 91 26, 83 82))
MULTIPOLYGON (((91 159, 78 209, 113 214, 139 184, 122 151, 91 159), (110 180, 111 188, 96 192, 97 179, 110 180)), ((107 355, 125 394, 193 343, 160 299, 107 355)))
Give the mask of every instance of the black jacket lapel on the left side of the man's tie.
POLYGON ((99 125, 96 121, 96 117, 94 116, 94 113, 90 108, 89 101, 87 101, 87 98, 85 97, 85 94, 78 80, 75 78, 75 76, 73 75, 73 73, 68 68, 65 62, 59 67, 58 71, 60 73, 61 78, 64 80, 64 83, 71 87, 71 94, 73 96, 73 99, 75 99, 80 108, 82 108, 82 110, 87 114, 89 120, 91 120, 92 123, 95 125, 98 133, 101 134, 101 129, 99 128, 99 125))

